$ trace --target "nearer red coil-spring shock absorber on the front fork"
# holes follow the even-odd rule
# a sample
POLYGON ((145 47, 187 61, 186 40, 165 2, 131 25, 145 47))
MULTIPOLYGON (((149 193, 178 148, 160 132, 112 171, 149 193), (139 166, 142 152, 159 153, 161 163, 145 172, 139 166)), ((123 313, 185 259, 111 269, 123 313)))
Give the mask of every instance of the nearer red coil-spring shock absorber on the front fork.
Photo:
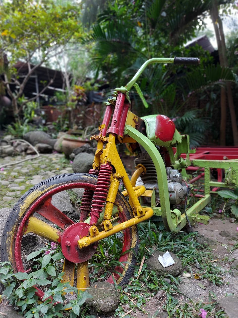
POLYGON ((112 167, 109 164, 102 164, 99 170, 96 189, 93 195, 92 208, 90 211, 90 225, 96 224, 99 214, 102 212, 108 194, 112 167))

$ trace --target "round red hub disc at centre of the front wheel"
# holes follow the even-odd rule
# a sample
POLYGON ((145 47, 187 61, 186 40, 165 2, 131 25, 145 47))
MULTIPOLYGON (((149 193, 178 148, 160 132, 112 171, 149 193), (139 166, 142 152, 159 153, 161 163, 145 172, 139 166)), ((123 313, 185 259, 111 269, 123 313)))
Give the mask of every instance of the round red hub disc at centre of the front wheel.
POLYGON ((79 249, 77 242, 89 234, 90 225, 87 223, 74 223, 69 225, 61 237, 62 253, 72 263, 83 263, 96 252, 98 242, 79 249))

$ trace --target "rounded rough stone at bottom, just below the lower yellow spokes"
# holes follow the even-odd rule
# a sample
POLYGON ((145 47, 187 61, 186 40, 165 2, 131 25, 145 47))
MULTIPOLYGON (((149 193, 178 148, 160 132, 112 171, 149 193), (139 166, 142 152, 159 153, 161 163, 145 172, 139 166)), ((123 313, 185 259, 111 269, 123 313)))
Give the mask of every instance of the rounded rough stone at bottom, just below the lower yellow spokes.
POLYGON ((89 307, 91 315, 114 315, 119 303, 119 293, 115 286, 107 282, 97 282, 87 289, 93 298, 87 298, 84 302, 89 307))

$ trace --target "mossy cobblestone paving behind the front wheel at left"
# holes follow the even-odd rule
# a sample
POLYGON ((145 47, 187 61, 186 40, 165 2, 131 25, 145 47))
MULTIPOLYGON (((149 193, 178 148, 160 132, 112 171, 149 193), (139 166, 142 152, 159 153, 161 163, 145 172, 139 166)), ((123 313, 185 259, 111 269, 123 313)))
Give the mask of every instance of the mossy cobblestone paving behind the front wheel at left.
MULTIPOLYGON (((42 180, 73 172, 71 163, 63 154, 42 154, 30 160, 31 157, 26 156, 25 158, 29 160, 0 169, 0 211, 4 212, 1 213, 0 235, 5 223, 2 216, 7 218, 7 211, 10 211, 10 209, 2 210, 3 208, 12 208, 27 190, 42 180)), ((0 166, 23 158, 22 156, 0 158, 0 166)))

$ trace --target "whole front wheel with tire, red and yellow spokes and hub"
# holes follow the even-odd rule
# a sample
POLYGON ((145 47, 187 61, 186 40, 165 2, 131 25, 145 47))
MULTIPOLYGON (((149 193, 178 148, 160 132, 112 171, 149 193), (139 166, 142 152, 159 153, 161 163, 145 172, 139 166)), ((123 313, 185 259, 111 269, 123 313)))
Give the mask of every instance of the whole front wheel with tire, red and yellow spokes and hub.
MULTIPOLYGON (((63 190, 76 188, 94 191, 96 182, 97 177, 93 175, 66 174, 44 180, 27 191, 14 206, 4 227, 1 244, 2 261, 10 261, 15 272, 31 272, 39 269, 35 264, 27 261, 27 256, 33 251, 23 245, 23 240, 26 241, 29 233, 33 233, 36 236, 34 246, 36 251, 49 245, 50 242, 56 243, 58 251, 63 253, 63 263, 58 262, 56 265, 58 270, 64 272, 63 282, 69 282, 73 286, 76 278, 76 287, 84 290, 85 281, 89 281, 88 262, 96 253, 97 244, 80 251, 77 248, 77 240, 88 235, 89 219, 83 223, 74 222, 51 203, 51 197, 63 190)), ((131 207, 120 191, 117 193, 113 211, 113 214, 117 215, 117 223, 133 218, 131 207)), ((117 284, 123 285, 131 277, 136 261, 138 251, 136 226, 124 230, 120 236, 121 256, 118 261, 123 266, 117 265, 113 270, 113 276, 117 284)), ((113 283, 112 275, 105 279, 113 283)), ((37 290, 38 296, 42 297, 43 290, 37 290)))

